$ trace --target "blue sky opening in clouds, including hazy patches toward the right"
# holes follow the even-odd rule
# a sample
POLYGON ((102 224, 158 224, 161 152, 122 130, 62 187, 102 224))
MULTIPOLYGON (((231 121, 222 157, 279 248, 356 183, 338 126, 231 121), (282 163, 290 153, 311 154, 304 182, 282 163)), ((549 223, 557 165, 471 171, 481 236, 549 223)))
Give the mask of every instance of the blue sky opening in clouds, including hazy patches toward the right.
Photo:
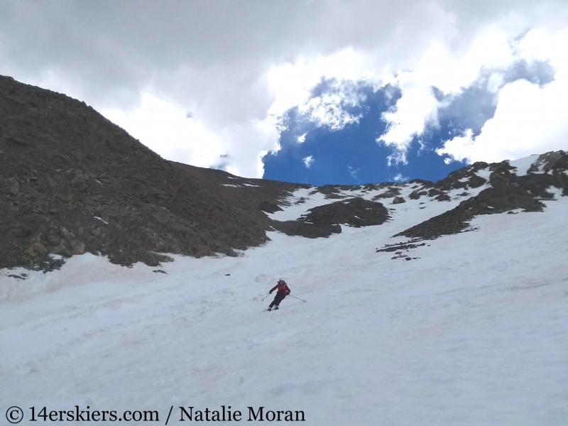
MULTIPOLYGON (((356 119, 344 120, 337 125, 336 110, 336 119, 328 119, 327 124, 322 124, 321 120, 314 120, 310 111, 302 112, 298 107, 288 109, 283 114, 280 150, 263 157, 263 178, 311 185, 442 179, 468 162, 450 158, 447 154, 439 155, 436 151, 467 131, 474 138, 479 136, 484 124, 496 113, 498 97, 491 89, 494 71, 485 70, 457 95, 444 94, 432 86, 432 95, 439 102, 437 119, 426 124, 405 146, 404 161, 389 161, 395 151, 391 146, 377 142, 388 131, 383 113, 396 111, 402 96, 400 88, 387 84, 377 89, 364 82, 355 84, 322 79, 312 89, 310 99, 321 100, 341 94, 343 98, 339 98, 347 100, 336 100, 334 106, 324 104, 324 109, 338 107, 342 114, 356 119), (336 126, 330 125, 329 121, 336 126)), ((541 88, 554 80, 552 67, 540 61, 513 62, 501 70, 501 75, 500 84, 525 80, 541 88)))

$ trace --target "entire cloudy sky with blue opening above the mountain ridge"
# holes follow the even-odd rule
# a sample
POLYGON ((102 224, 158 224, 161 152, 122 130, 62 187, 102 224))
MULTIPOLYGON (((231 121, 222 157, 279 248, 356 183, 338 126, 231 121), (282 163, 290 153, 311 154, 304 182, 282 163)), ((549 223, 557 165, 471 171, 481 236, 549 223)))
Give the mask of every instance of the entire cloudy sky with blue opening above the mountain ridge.
POLYGON ((568 3, 4 0, 0 74, 168 160, 313 185, 568 149, 568 3))

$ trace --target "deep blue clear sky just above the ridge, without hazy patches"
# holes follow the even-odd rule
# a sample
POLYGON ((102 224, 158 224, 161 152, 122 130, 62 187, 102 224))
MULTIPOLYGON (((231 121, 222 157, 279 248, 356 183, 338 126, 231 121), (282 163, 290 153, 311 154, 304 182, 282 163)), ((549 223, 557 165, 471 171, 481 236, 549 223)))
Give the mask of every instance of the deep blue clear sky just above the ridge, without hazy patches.
MULTIPOLYGON (((324 82, 312 92, 322 93, 324 82)), ((386 86, 374 90, 360 84, 361 105, 347 108, 353 115, 361 115, 359 121, 346 124, 340 130, 329 126, 317 126, 305 121, 297 108, 285 114, 285 130, 280 133, 281 149, 268 153, 264 158, 265 179, 312 185, 360 185, 373 182, 411 180, 415 178, 438 180, 466 163, 444 163, 444 157, 435 153, 452 133, 452 116, 440 121, 439 128, 432 128, 420 139, 415 137, 406 153, 408 163, 388 165, 392 148, 376 140, 386 131, 381 114, 392 108, 400 98, 400 90, 386 86), (306 134, 302 143, 298 138, 306 134), (306 164, 305 158, 312 158, 306 164)))

